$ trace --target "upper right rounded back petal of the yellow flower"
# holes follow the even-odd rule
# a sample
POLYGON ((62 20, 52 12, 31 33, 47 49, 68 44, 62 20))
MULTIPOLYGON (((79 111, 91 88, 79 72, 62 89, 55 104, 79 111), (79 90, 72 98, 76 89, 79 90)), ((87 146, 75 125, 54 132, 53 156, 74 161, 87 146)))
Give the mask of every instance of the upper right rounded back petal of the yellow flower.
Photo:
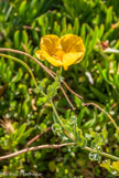
POLYGON ((61 45, 65 53, 85 52, 82 38, 74 34, 66 34, 61 38, 61 45))

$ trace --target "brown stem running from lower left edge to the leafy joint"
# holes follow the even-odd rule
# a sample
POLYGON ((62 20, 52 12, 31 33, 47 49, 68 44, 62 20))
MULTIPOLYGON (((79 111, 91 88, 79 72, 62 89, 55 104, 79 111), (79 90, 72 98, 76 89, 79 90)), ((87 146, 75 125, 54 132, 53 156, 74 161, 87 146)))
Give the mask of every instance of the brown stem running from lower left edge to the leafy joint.
POLYGON ((19 151, 13 153, 13 154, 1 156, 0 160, 9 159, 9 158, 15 157, 18 155, 21 155, 21 154, 24 154, 24 153, 28 153, 28 151, 31 151, 31 150, 46 149, 46 148, 53 148, 54 149, 54 148, 61 148, 61 147, 64 147, 64 146, 72 146, 72 145, 75 145, 75 143, 66 143, 66 144, 61 144, 61 145, 41 145, 41 146, 35 146, 35 147, 31 147, 31 148, 25 148, 25 149, 19 150, 19 151))

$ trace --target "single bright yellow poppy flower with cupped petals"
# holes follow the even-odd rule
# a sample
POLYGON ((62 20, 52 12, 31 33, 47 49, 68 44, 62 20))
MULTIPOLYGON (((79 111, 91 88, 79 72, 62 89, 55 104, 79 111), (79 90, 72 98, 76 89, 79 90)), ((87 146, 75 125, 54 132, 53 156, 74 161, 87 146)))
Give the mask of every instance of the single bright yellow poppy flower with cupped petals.
POLYGON ((54 34, 44 35, 40 48, 35 52, 39 59, 47 60, 54 66, 63 66, 64 70, 80 62, 85 54, 82 38, 74 34, 65 34, 61 39, 54 34))

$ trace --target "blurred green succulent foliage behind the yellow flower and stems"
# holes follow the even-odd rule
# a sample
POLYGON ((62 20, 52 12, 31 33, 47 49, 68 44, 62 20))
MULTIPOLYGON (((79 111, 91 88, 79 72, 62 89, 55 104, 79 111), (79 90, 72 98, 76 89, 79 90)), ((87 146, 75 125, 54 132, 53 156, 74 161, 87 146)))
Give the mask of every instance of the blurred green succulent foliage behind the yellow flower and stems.
MULTIPOLYGON (((118 8, 118 0, 1 0, 0 48, 35 56, 40 39, 45 34, 82 36, 85 57, 64 71, 63 76, 71 88, 86 102, 101 106, 119 125, 119 52, 105 52, 107 48, 119 49, 118 8)), ((37 81, 44 81, 46 85, 53 82, 32 60, 9 54, 26 62, 37 81)), ((44 64, 57 70, 46 61, 44 64)), ((33 88, 33 81, 23 66, 0 57, 0 118, 4 121, 0 127, 0 155, 24 148, 30 139, 52 126, 52 107, 33 88)), ((78 127, 88 142, 90 128, 99 133, 106 126, 108 138, 104 150, 119 156, 119 139, 116 139, 116 129, 108 117, 95 107, 83 107, 80 100, 66 93, 77 109, 72 111, 58 91, 54 101, 62 117, 76 115, 78 127)), ((61 139, 50 130, 31 146, 60 143, 61 139)), ((0 171, 40 172, 43 178, 113 178, 97 161, 89 160, 88 154, 77 147, 30 151, 0 161, 0 171)))

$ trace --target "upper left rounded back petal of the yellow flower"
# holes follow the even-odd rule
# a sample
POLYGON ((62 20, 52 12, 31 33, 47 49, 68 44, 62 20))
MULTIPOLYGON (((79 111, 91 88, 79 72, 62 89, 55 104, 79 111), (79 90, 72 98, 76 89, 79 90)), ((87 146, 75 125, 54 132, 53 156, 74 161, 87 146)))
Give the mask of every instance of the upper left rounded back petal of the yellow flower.
POLYGON ((41 39, 40 46, 42 51, 45 51, 50 55, 53 55, 60 46, 60 39, 57 35, 54 34, 44 35, 41 39))

